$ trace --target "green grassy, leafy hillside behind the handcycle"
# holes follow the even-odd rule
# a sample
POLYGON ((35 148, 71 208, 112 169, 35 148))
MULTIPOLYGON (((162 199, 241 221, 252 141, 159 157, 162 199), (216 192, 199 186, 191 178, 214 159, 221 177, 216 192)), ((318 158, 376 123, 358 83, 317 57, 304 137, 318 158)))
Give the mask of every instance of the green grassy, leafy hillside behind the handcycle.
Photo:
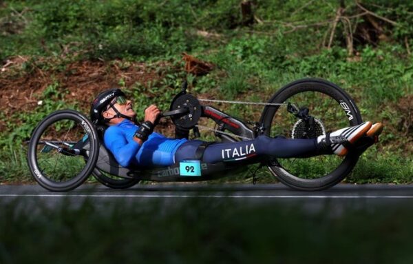
MULTIPOLYGON (((242 101, 266 101, 296 79, 328 79, 351 94, 363 119, 385 124, 381 143, 364 154, 347 181, 411 183, 413 3, 255 0, 251 21, 240 2, 1 1, 0 65, 12 63, 0 72, 0 181, 30 180, 21 143, 47 114, 64 108, 88 112, 85 102, 93 94, 85 93, 91 98, 83 101, 72 97, 79 84, 67 81, 81 74, 86 61, 108 79, 114 69, 121 72, 110 85, 125 88, 140 117, 150 103, 169 108, 185 78, 193 94, 242 101), (203 77, 186 74, 182 52, 215 69, 203 77), (136 63, 147 77, 130 81, 139 75, 136 63), (36 79, 30 88, 38 88, 26 94, 34 103, 10 108, 8 103, 18 103, 10 94, 36 79)), ((90 82, 93 76, 85 74, 90 82)), ((220 107, 251 121, 262 110, 220 107)))

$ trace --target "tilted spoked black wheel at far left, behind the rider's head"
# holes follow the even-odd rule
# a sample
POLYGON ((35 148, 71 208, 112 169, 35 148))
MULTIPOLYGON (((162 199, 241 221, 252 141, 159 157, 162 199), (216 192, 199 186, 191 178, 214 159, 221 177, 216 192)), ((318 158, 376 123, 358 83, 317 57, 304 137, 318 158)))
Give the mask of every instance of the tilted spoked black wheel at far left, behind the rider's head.
POLYGON ((28 148, 34 179, 47 190, 63 192, 81 185, 98 159, 92 123, 73 110, 56 111, 36 127, 28 148))

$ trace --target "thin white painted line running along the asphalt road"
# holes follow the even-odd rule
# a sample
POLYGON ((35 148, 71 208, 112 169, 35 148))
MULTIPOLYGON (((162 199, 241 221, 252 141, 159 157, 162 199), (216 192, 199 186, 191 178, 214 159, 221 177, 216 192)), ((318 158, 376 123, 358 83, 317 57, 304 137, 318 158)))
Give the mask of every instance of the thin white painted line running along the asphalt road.
POLYGON ((413 199, 413 196, 306 196, 306 195, 186 195, 186 194, 0 194, 0 197, 102 197, 102 198, 253 198, 253 199, 413 199))

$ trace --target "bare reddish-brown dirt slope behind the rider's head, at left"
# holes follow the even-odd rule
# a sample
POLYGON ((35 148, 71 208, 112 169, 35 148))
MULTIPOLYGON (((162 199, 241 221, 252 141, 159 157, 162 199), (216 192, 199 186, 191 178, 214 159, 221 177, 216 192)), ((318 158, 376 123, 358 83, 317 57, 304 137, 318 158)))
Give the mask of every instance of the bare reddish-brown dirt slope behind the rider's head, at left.
POLYGON ((30 70, 21 70, 28 67, 28 58, 16 57, 10 61, 0 72, 0 110, 5 114, 32 110, 47 86, 53 83, 59 84, 59 91, 67 92, 63 97, 65 101, 76 101, 87 109, 98 92, 118 87, 120 80, 129 86, 160 78, 145 63, 76 61, 50 70, 42 70, 31 63, 30 70))

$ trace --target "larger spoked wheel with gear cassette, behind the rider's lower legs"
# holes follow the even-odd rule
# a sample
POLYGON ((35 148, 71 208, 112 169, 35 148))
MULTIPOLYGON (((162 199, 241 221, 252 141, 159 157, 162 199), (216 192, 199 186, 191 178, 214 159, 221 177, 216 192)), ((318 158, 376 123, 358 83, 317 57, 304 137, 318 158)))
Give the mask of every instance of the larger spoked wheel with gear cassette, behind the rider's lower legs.
MULTIPOLYGON (((276 92, 261 116, 264 134, 290 139, 313 139, 361 123, 351 97, 334 83, 303 79, 276 92)), ((324 190, 342 181, 356 165, 358 154, 334 154, 308 158, 274 159, 269 166, 279 181, 297 190, 324 190)))

